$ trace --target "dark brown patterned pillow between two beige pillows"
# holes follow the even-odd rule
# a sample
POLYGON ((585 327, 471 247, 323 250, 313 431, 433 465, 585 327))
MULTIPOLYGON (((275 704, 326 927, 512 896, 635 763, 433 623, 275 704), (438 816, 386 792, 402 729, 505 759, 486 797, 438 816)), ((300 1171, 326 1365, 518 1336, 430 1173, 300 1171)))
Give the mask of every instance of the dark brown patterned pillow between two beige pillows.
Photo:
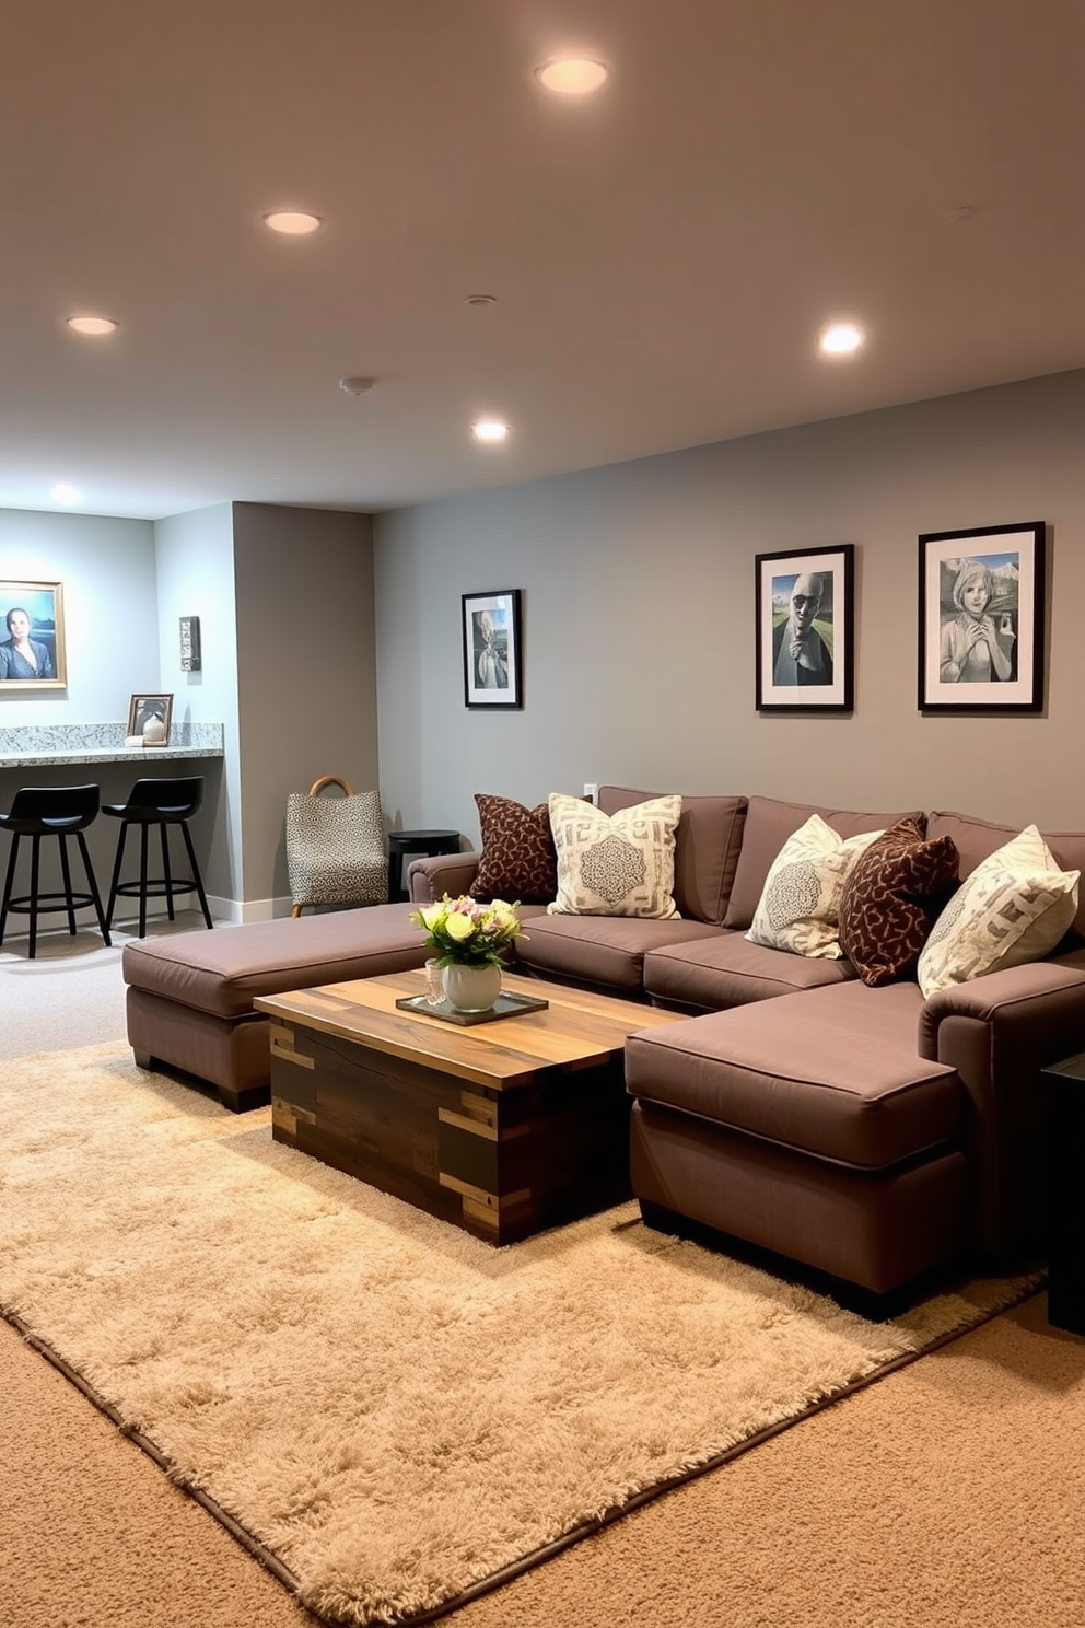
POLYGON ((916 969, 948 894, 956 886, 952 837, 926 842, 901 819, 864 848, 844 882, 839 944, 864 983, 890 983, 916 969))

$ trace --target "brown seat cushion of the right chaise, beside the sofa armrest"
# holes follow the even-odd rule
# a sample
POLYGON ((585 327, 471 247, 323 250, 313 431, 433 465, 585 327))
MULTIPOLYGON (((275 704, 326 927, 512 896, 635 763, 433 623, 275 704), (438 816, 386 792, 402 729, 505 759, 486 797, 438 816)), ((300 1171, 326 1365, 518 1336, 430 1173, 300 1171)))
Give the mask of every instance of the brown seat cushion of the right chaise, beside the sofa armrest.
POLYGON ((882 1171, 961 1130, 955 1070, 916 1052, 916 985, 857 982, 709 1013, 626 1042, 631 1096, 820 1159, 882 1171))

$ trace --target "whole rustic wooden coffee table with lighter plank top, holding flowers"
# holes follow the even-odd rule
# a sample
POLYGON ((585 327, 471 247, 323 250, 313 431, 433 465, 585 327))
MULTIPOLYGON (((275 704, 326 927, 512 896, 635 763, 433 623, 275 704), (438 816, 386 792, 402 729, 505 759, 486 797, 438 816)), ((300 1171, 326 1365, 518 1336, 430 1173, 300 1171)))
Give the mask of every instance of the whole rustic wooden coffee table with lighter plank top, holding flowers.
POLYGON ((503 987, 550 1004, 473 1027, 397 1011, 421 972, 260 996, 272 1135, 490 1244, 621 1203, 626 1035, 680 1014, 511 974, 503 987))

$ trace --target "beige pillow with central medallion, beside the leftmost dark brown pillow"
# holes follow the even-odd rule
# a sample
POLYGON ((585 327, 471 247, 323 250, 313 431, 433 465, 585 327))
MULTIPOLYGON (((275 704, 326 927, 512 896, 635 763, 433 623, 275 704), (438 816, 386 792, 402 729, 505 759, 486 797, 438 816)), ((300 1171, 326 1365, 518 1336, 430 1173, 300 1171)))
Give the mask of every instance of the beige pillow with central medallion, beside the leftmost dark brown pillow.
POLYGON ((561 791, 551 791, 548 804, 558 851, 550 915, 678 915, 672 894, 680 796, 651 798, 617 814, 561 791))

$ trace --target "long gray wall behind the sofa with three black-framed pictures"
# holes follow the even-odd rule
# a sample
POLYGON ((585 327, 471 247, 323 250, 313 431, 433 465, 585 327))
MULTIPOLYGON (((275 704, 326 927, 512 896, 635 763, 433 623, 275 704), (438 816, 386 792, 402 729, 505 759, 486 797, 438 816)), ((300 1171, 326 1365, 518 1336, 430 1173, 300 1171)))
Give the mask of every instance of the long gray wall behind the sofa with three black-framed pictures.
MULTIPOLYGON (((499 454, 498 454, 499 456, 499 454)), ((475 791, 617 781, 1085 824, 1085 371, 376 521, 381 791, 478 840, 475 791), (924 716, 917 536, 1051 527, 1048 707, 924 716), (758 716, 753 557, 854 542, 856 708, 758 716), (525 707, 464 707, 460 594, 524 589, 525 707)))

